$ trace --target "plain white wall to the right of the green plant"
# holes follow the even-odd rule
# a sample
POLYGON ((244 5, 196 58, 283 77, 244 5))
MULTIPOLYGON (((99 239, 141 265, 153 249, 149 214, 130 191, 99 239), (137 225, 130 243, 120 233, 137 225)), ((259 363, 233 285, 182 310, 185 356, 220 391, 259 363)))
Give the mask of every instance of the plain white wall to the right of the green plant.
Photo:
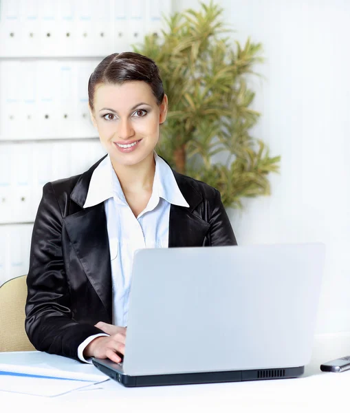
MULTIPOLYGON (((254 136, 281 154, 272 195, 230 211, 240 244, 324 242, 318 333, 350 330, 350 1, 221 0, 232 39, 263 43, 254 136)), ((199 8, 174 1, 175 10, 199 8)), ((283 276, 283 275, 282 275, 283 276)))

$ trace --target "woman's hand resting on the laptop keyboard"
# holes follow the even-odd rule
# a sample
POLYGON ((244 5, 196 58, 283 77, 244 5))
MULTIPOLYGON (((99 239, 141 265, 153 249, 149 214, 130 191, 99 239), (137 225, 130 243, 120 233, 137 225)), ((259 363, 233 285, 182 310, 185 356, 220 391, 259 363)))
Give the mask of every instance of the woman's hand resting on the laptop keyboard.
POLYGON ((122 361, 125 350, 127 328, 113 326, 99 321, 95 327, 109 334, 109 337, 96 337, 83 352, 84 357, 96 357, 98 359, 110 359, 114 363, 122 361))

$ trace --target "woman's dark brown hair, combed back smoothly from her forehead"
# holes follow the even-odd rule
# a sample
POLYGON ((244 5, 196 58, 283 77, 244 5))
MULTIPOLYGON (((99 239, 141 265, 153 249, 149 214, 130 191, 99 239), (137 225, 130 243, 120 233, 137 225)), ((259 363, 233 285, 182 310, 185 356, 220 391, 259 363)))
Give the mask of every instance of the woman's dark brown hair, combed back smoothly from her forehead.
POLYGON ((91 74, 87 87, 91 109, 94 109, 96 85, 99 83, 115 85, 131 81, 148 83, 157 104, 162 103, 164 98, 163 83, 155 62, 146 56, 142 56, 142 54, 124 52, 109 54, 96 66, 91 74))

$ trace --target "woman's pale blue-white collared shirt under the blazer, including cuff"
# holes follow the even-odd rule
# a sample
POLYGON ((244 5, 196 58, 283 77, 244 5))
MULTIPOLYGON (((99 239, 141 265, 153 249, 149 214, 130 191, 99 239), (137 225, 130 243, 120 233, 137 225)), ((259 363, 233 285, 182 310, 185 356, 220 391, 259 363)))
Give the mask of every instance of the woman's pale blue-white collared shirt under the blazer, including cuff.
MULTIPOLYGON (((84 208, 105 202, 109 253, 111 257, 113 324, 127 326, 133 255, 140 248, 168 247, 171 204, 189 207, 169 167, 154 152, 155 176, 151 198, 136 218, 127 204, 120 182, 107 156, 94 170, 84 208)), ((92 339, 78 348, 78 357, 92 339)))

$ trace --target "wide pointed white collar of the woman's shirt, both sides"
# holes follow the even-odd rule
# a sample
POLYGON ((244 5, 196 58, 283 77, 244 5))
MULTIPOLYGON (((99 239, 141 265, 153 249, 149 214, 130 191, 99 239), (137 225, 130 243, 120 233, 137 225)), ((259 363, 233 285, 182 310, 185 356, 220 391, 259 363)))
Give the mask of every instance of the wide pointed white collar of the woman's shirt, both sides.
MULTIPOLYGON (((171 167, 154 152, 155 176, 153 180, 152 198, 163 198, 169 204, 189 207, 182 195, 171 167)), ((106 156, 91 176, 87 198, 83 208, 94 207, 109 198, 115 198, 123 204, 126 202, 122 187, 111 164, 111 158, 106 156), (114 196, 116 195, 116 196, 114 196)))

